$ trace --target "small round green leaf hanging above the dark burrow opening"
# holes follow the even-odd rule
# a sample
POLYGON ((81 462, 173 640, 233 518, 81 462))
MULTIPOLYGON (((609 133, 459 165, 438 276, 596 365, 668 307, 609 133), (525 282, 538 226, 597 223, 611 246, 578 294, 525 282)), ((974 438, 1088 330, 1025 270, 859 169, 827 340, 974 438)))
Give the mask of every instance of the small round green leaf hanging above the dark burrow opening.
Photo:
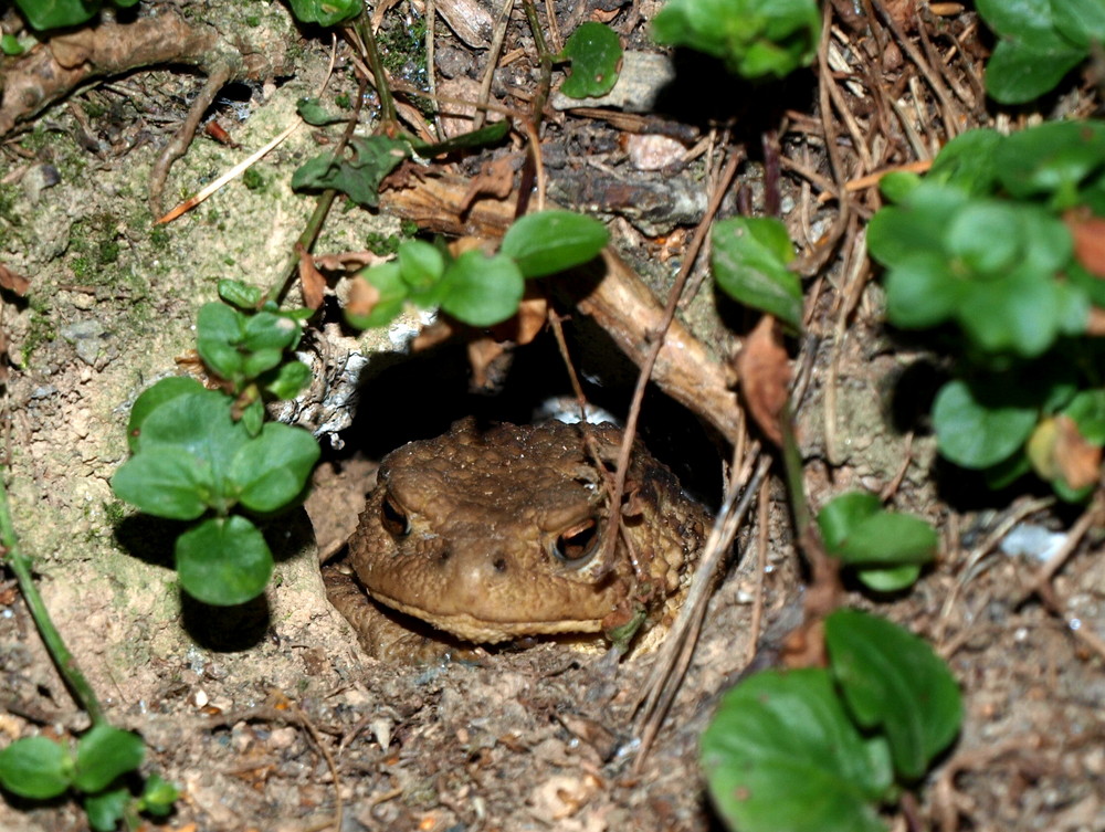
POLYGON ((525 280, 515 262, 496 254, 488 257, 473 249, 445 270, 441 281, 441 308, 471 326, 494 326, 518 312, 525 280))

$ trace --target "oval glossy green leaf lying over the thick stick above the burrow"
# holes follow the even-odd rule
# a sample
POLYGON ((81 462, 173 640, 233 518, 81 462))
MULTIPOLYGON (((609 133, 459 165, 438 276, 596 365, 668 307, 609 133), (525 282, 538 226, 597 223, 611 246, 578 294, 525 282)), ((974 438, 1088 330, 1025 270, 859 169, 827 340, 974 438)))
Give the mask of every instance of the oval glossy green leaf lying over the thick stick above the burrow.
POLYGON ((572 211, 539 211, 517 220, 499 253, 518 264, 525 277, 544 277, 582 265, 610 242, 607 227, 572 211))

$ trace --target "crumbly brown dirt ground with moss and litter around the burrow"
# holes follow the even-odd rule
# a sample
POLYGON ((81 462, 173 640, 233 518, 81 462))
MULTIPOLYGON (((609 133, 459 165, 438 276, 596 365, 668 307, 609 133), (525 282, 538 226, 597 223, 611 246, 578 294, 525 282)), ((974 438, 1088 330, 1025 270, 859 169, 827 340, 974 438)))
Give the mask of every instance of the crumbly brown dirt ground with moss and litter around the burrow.
MULTIPOLYGON (((295 102, 314 94, 330 62, 329 36, 297 29, 281 4, 180 0, 161 10, 170 6, 214 27, 242 54, 263 54, 266 71, 222 89, 208 118, 239 147, 198 136, 171 169, 166 207, 294 124, 295 102)), ((501 3, 477 6, 494 15, 501 3)), ((863 224, 878 196, 859 188, 846 215, 832 196, 845 180, 929 158, 950 133, 1038 117, 1011 120, 987 109, 978 78, 987 43, 970 10, 915 18, 913 6, 874 3, 877 36, 833 15, 825 56, 833 72, 797 73, 768 96, 727 77, 703 83, 693 65, 677 62, 690 87, 654 104, 663 118, 648 122, 652 137, 666 141, 632 131, 643 115, 557 109, 565 105, 554 95, 543 137, 549 194, 610 220, 614 248, 662 302, 726 148, 747 148, 722 214, 780 213, 811 275, 809 336, 792 352, 796 366, 809 369, 798 419, 812 501, 899 481, 895 507, 940 531, 937 564, 909 592, 848 599, 929 640, 964 692, 961 736, 915 796, 887 812, 888 822, 943 832, 1103 830, 1105 656, 1075 632, 1096 633, 1097 643, 1105 634, 1099 530, 1054 577, 1064 612, 1053 614, 1031 592, 1040 561, 1003 554, 996 543, 1012 519, 1063 531, 1077 513, 1033 503, 1040 495, 985 493, 936 460, 919 415, 936 362, 884 328, 881 288, 862 254, 863 224), (923 64, 938 67, 938 92, 923 64), (886 119, 888 101, 897 122, 886 119)), ((517 7, 492 94, 525 107, 536 69, 517 7)), ((659 8, 656 0, 557 3, 559 30, 599 19, 629 49, 656 53, 646 24, 659 8)), ((389 70, 411 84, 424 80, 411 46, 422 10, 400 0, 383 15, 389 70)), ((439 89, 471 99, 486 49, 442 20, 435 41, 439 89)), ((356 95, 340 43, 328 84, 330 99, 356 95)), ((202 73, 160 63, 116 73, 81 86, 0 145, 0 263, 30 280, 27 297, 0 298, 14 520, 45 602, 112 718, 140 731, 147 766, 183 789, 166 828, 319 830, 334 828, 340 812, 346 832, 719 829, 703 790, 697 736, 756 644, 757 662, 770 663, 801 617, 804 576, 779 483, 760 515, 767 527, 755 523, 738 534, 680 693, 643 759, 634 707, 651 656, 618 664, 535 643, 473 661, 383 665, 361 652, 326 601, 317 551, 336 548, 348 530, 370 487, 371 462, 471 412, 517 420, 568 392, 550 338, 516 351, 497 394, 473 393, 463 346, 410 356, 418 319, 356 337, 328 302, 304 348, 318 381, 294 413, 328 455, 312 506, 315 528, 302 509, 267 527, 280 562, 256 603, 221 611, 190 601, 171 569, 175 528, 114 498, 108 480, 126 457, 134 399, 178 371, 176 359, 193 346, 196 310, 215 296, 218 280, 274 284, 314 208, 313 198, 290 189, 293 170, 319 152, 322 134, 301 127, 248 183, 235 180, 154 228, 150 171, 201 85, 202 73), (757 592, 764 618, 754 633, 757 592)), ((369 93, 366 115, 375 115, 376 101, 369 93)), ((1098 101, 1092 87, 1072 83, 1048 107, 1046 117, 1087 115, 1098 101)), ((517 139, 497 154, 520 159, 522 148, 517 139)), ((485 159, 452 172, 471 178, 485 159)), ((315 253, 362 251, 371 235, 398 229, 388 210, 336 209, 315 253)), ((681 318, 716 361, 754 323, 709 283, 685 301, 681 318)), ((567 326, 592 398, 622 417, 629 362, 583 316, 567 326)), ((653 451, 716 504, 724 443, 659 391, 646 399, 643 429, 653 451)), ((0 573, 0 745, 40 729, 80 730, 84 717, 8 577, 0 573)), ((0 801, 0 829, 84 828, 67 801, 0 801)))

